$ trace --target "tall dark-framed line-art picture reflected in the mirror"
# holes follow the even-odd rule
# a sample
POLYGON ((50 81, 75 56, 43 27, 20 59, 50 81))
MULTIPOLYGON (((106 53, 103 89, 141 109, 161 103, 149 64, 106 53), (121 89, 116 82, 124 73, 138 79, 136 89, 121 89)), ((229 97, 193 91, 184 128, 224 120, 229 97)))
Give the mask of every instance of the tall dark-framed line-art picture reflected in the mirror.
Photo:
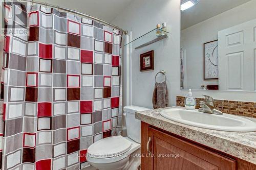
POLYGON ((218 40, 204 43, 204 80, 219 79, 218 40))

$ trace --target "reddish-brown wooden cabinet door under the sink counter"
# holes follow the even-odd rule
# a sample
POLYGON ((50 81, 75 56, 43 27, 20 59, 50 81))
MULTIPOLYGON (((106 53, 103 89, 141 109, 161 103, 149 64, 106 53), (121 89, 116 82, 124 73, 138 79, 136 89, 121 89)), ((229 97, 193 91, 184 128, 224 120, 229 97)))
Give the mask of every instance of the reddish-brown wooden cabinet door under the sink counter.
POLYGON ((165 170, 231 170, 236 169, 236 161, 222 155, 198 147, 193 143, 181 140, 151 127, 148 127, 151 137, 149 150, 151 168, 165 170))

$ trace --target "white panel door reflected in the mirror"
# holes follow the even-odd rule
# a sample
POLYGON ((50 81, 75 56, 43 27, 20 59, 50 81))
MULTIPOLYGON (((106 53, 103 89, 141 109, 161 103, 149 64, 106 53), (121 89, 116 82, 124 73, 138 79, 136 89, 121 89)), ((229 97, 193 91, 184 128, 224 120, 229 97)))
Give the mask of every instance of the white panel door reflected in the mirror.
POLYGON ((256 90, 256 19, 219 31, 219 89, 256 90))

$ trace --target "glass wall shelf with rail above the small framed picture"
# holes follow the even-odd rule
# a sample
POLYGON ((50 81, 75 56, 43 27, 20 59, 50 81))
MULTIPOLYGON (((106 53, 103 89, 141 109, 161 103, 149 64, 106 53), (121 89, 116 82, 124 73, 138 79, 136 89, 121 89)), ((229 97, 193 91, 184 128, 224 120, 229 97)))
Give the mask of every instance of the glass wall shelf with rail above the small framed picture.
POLYGON ((138 49, 138 48, 144 47, 146 45, 152 44, 154 42, 160 41, 164 38, 167 38, 168 35, 169 35, 169 32, 167 32, 167 31, 163 31, 161 29, 154 29, 154 30, 151 30, 150 32, 147 32, 146 34, 136 38, 135 40, 125 44, 124 46, 132 44, 132 46, 135 49, 138 49), (161 35, 158 37, 156 35, 157 31, 160 31, 160 33, 161 33, 161 35))

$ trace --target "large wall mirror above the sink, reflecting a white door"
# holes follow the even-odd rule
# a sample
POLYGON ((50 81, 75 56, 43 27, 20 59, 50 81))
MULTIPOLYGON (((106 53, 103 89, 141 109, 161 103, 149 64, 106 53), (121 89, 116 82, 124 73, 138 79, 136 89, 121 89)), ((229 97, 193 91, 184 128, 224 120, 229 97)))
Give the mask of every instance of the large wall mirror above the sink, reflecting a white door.
POLYGON ((256 92, 256 1, 181 3, 181 89, 256 92))

